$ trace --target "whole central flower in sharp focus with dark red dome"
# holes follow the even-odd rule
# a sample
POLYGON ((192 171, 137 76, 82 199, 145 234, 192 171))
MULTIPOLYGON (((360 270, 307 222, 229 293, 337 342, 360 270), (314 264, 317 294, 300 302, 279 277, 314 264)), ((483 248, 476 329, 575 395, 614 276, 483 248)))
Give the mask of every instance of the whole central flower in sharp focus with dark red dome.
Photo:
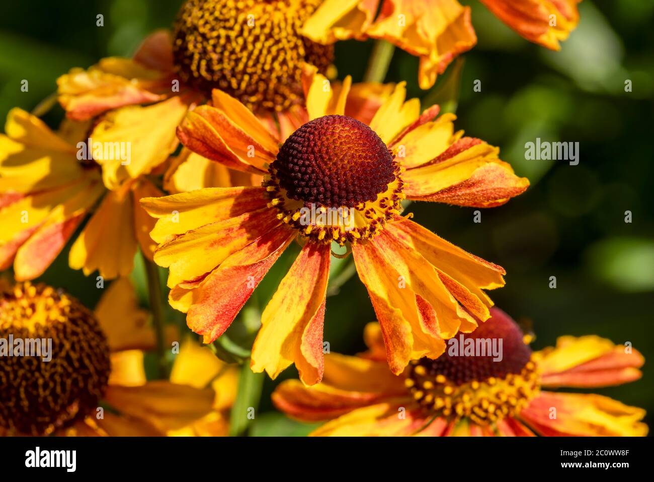
POLYGON ((224 333, 279 255, 300 242, 262 314, 252 369, 274 378, 295 363, 307 384, 322 378, 332 243, 353 251, 388 363, 401 373, 409 360, 437 358, 443 339, 475 329, 471 313, 487 319, 492 302, 482 290, 504 285, 501 267, 401 217, 401 200, 490 207, 528 187, 496 147, 455 132, 454 115, 437 118, 437 106, 421 115, 417 100, 404 102, 404 84, 370 126, 343 115, 349 78, 338 96, 327 85, 307 69, 311 121, 281 147, 247 107, 214 90, 212 105, 190 112, 179 137, 203 157, 264 176, 262 186, 141 200, 158 218, 154 261, 170 269, 169 302, 188 313, 188 326, 205 343, 224 333), (317 215, 307 219, 312 208, 317 215), (335 214, 346 211, 349 221, 335 214))

